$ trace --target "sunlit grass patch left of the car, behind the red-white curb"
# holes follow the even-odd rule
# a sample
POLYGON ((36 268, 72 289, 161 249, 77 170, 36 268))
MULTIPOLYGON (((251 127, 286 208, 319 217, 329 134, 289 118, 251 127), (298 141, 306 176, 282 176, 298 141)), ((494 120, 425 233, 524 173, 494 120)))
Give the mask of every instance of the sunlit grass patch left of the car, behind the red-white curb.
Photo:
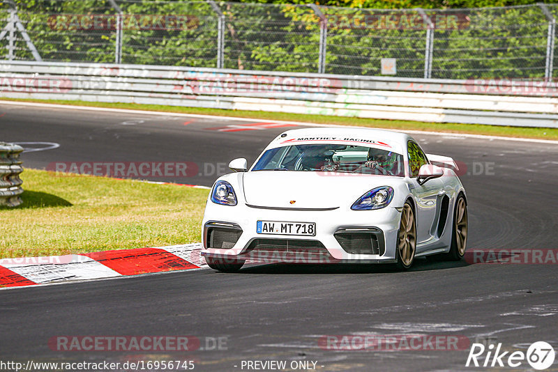
POLYGON ((24 203, 0 208, 0 258, 199 242, 208 190, 25 169, 24 203))

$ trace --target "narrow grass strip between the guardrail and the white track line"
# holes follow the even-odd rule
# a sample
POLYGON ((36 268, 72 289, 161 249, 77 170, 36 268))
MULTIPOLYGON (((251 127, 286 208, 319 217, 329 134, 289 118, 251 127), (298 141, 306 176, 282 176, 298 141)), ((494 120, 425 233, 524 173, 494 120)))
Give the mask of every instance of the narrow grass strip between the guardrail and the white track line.
POLYGON ((112 109, 136 109, 148 111, 178 112, 181 114, 203 114, 217 116, 235 116, 269 121, 301 121, 316 124, 358 125, 362 127, 379 127, 400 130, 423 130, 432 132, 484 134, 490 136, 522 137, 535 139, 558 139, 557 128, 506 127, 501 125, 427 123, 422 121, 398 121, 367 118, 346 118, 342 116, 288 114, 266 111, 233 111, 225 109, 202 109, 197 107, 163 106, 158 104, 103 103, 73 100, 25 100, 0 98, 0 100, 68 104, 74 106, 109 107, 112 109))

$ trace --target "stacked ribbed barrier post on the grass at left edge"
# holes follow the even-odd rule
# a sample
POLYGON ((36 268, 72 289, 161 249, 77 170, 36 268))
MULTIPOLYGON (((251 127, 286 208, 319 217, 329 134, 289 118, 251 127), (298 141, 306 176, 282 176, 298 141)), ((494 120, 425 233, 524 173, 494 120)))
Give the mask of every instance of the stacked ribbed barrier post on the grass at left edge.
POLYGON ((22 146, 0 142, 0 206, 15 207, 23 202, 20 197, 23 192, 22 151, 22 146))

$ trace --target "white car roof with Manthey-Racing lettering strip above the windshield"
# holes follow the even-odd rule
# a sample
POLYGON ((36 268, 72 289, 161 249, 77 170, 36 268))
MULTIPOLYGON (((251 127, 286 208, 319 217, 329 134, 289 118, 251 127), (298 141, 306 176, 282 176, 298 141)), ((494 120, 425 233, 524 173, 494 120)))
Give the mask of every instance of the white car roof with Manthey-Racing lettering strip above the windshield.
POLYGON ((287 130, 273 139, 267 148, 287 146, 289 144, 328 143, 332 140, 360 146, 379 146, 387 144, 393 150, 403 153, 407 141, 412 139, 409 134, 362 127, 311 127, 287 130))

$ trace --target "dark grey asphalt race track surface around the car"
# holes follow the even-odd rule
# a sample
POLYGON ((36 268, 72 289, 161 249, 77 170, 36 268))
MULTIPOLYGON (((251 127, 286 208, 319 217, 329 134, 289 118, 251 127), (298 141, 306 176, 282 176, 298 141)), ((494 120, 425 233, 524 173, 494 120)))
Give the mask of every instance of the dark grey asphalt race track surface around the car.
MULTIPOLYGON (((219 166, 223 169, 219 164, 241 156, 250 163, 273 137, 290 129, 253 125, 257 121, 1 103, 0 115, 1 140, 60 145, 24 153, 24 166, 187 161, 197 165, 197 174, 152 180, 206 186, 218 176, 219 166), (232 131, 242 125, 252 129, 232 131), (230 130, 214 129, 223 127, 230 130)), ((460 177, 469 201, 467 249, 557 249, 557 145, 414 137, 427 153, 467 165, 460 177)), ((502 350, 522 352, 534 341, 547 341, 558 350, 557 265, 418 259, 409 272, 381 265, 260 265, 237 274, 198 270, 0 290, 0 359, 181 359, 195 361, 197 371, 247 371, 242 362, 248 360, 313 361, 319 371, 486 370, 465 367, 469 346, 329 350, 320 340, 327 335, 427 334, 502 343, 502 350), (211 350, 146 355, 49 347, 52 337, 72 335, 190 335, 211 350), (213 350, 211 340, 218 337, 226 343, 213 350)), ((549 371, 557 370, 556 363, 549 371)), ((520 367, 529 368, 527 362, 520 367)))

